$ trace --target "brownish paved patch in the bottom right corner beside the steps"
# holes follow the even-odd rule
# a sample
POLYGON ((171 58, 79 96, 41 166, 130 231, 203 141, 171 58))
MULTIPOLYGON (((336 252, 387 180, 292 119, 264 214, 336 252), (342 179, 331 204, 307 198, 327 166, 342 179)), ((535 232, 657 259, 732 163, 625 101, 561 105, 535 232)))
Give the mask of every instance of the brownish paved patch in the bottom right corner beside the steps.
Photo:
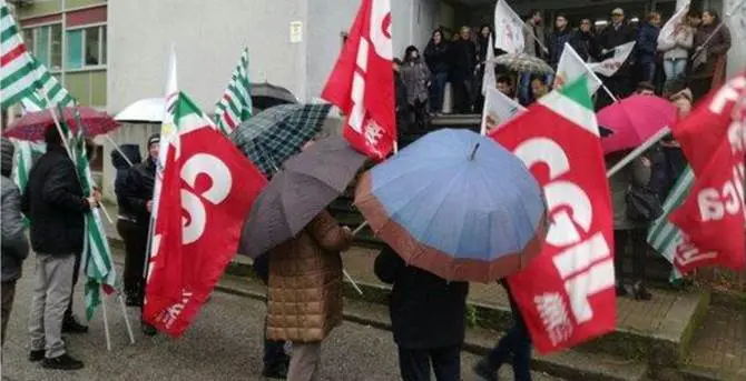
POLYGON ((746 380, 746 311, 710 305, 691 342, 687 362, 746 380))

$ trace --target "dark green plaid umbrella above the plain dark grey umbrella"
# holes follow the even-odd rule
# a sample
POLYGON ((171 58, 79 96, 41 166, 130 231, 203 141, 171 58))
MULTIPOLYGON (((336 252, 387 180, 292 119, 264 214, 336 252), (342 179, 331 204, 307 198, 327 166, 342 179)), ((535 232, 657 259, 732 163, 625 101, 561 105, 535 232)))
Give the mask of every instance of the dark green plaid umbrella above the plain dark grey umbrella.
POLYGON ((230 140, 264 174, 272 176, 321 131, 331 108, 331 104, 276 106, 241 123, 230 140))

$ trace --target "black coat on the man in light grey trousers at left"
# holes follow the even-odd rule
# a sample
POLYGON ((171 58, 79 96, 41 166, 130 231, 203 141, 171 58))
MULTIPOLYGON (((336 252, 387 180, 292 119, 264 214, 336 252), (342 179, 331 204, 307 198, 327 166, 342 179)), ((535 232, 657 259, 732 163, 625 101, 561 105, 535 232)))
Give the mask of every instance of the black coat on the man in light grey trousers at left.
POLYGON ((63 147, 49 147, 33 164, 21 210, 31 221, 35 252, 52 255, 82 252, 85 213, 90 211, 90 204, 63 147))

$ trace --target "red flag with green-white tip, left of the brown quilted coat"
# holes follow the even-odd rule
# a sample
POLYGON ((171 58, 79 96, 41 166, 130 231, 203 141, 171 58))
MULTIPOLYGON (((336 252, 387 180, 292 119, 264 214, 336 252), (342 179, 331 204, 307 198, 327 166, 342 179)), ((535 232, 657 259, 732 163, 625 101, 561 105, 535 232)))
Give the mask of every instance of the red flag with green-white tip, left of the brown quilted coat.
POLYGON ((183 93, 153 238, 144 319, 178 337, 235 255, 246 214, 266 184, 254 164, 183 93))

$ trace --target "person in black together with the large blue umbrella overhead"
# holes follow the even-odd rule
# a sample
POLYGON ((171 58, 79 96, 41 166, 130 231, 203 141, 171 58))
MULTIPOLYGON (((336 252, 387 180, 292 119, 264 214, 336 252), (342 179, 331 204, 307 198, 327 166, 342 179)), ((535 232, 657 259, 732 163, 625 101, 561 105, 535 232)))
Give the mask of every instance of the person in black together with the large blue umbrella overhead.
POLYGON ((432 132, 359 181, 355 204, 386 249, 402 378, 459 380, 469 281, 523 269, 544 239, 546 202, 523 163, 468 130, 432 132), (399 258, 396 258, 399 257, 399 258))

